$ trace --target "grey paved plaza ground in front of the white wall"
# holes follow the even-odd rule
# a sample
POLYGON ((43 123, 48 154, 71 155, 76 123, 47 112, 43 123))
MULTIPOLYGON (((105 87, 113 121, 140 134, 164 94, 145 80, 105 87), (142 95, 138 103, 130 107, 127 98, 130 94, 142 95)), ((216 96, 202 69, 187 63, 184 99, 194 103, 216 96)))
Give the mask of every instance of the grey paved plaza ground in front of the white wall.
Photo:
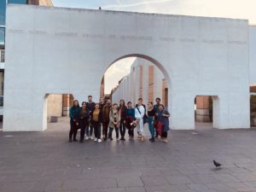
POLYGON ((170 131, 167 144, 68 143, 68 130, 60 119, 44 132, 0 132, 0 191, 256 191, 255 129, 201 125, 170 131))

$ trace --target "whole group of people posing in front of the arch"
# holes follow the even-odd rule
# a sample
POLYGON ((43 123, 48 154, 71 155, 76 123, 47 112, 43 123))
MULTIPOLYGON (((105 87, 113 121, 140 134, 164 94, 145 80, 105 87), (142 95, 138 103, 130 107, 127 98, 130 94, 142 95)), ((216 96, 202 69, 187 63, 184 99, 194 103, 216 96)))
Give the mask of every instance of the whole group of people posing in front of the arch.
POLYGON ((131 102, 125 105, 124 100, 120 100, 119 105, 112 104, 110 99, 105 103, 103 98, 95 103, 92 102, 92 96, 88 96, 88 102, 82 102, 81 107, 79 107, 79 101, 74 100, 73 107, 69 110, 69 142, 78 142, 76 136, 79 129, 80 143, 89 139, 98 143, 102 143, 102 140, 112 141, 113 130, 116 140, 125 141, 126 129, 129 140, 133 140, 136 128, 137 139, 143 142, 145 141, 144 125, 147 123, 151 135, 149 141, 154 142, 158 139, 167 143, 170 113, 160 103, 159 97, 155 99, 155 102, 155 104, 148 102, 147 110, 142 98, 138 99, 135 108, 132 108, 131 102))

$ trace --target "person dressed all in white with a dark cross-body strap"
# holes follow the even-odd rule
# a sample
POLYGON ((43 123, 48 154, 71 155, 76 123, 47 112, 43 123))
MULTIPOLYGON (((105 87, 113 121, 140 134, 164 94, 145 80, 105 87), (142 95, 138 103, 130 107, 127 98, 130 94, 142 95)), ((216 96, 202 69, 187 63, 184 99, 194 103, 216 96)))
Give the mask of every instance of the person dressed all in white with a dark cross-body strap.
POLYGON ((143 116, 145 114, 145 108, 143 107, 143 99, 139 98, 137 102, 137 107, 135 108, 135 118, 137 119, 137 133, 138 140, 142 142, 145 140, 144 135, 144 124, 143 124, 143 116))

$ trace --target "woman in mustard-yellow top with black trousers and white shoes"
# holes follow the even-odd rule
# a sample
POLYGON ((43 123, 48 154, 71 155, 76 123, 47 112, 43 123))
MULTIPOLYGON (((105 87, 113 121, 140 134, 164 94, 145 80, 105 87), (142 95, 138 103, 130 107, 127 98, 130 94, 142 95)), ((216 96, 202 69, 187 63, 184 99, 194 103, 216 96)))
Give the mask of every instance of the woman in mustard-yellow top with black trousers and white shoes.
POLYGON ((102 139, 101 139, 102 110, 100 109, 99 103, 96 103, 95 109, 92 112, 91 123, 94 128, 94 134, 95 134, 94 141, 98 143, 102 143, 102 139))

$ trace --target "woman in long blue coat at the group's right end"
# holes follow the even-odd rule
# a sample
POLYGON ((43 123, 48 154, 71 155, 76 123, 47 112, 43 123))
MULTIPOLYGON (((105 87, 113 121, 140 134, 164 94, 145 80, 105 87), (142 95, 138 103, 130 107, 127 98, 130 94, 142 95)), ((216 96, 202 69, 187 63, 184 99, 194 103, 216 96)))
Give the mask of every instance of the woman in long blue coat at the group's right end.
POLYGON ((157 114, 157 120, 162 123, 162 142, 167 143, 167 131, 170 130, 169 127, 169 117, 170 113, 164 109, 164 106, 162 104, 159 105, 158 108, 158 114, 157 114))

